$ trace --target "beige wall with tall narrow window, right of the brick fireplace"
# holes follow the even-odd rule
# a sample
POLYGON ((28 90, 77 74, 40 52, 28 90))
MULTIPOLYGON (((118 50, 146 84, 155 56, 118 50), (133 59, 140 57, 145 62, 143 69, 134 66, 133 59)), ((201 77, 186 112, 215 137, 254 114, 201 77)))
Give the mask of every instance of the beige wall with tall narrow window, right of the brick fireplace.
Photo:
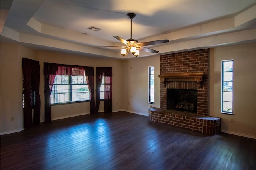
POLYGON ((210 115, 221 118, 221 130, 256 138, 256 43, 210 49, 210 115), (221 111, 221 61, 234 60, 234 115, 221 111), (235 123, 230 123, 231 119, 235 123))

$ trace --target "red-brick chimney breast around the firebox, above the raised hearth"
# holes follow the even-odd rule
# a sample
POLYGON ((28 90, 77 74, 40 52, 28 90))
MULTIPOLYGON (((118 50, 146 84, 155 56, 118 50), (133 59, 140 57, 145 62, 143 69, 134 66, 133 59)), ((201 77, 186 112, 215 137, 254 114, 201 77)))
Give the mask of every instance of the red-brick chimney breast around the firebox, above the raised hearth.
POLYGON ((186 75, 193 77, 193 73, 203 75, 199 83, 196 79, 190 81, 192 78, 160 80, 160 108, 167 109, 167 89, 191 89, 197 90, 197 114, 208 115, 208 49, 161 55, 160 75, 170 73, 180 74, 181 78, 186 75))

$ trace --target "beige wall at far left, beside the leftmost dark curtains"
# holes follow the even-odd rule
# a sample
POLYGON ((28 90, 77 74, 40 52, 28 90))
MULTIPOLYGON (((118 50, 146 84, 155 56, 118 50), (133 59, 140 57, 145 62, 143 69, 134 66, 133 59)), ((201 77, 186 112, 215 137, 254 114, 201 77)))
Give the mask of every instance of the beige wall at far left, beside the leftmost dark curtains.
POLYGON ((23 129, 22 58, 35 56, 36 51, 22 45, 1 43, 1 134, 23 129))

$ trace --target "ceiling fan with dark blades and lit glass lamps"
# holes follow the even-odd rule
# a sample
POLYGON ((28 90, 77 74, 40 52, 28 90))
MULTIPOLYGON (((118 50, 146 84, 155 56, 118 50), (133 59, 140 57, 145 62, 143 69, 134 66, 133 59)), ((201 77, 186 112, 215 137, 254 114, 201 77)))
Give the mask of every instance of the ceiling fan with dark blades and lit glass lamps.
POLYGON ((104 46, 104 47, 122 47, 125 49, 121 50, 121 55, 125 56, 128 55, 129 51, 136 57, 139 55, 139 50, 146 51, 149 53, 158 53, 159 51, 156 51, 154 49, 146 48, 143 46, 148 46, 148 45, 156 45, 160 43, 167 43, 169 40, 156 40, 156 41, 150 41, 150 42, 142 42, 139 43, 138 40, 132 39, 132 19, 136 16, 134 13, 128 13, 127 16, 131 19, 131 38, 128 40, 124 40, 123 38, 119 36, 113 36, 120 42, 124 43, 125 46, 104 46))

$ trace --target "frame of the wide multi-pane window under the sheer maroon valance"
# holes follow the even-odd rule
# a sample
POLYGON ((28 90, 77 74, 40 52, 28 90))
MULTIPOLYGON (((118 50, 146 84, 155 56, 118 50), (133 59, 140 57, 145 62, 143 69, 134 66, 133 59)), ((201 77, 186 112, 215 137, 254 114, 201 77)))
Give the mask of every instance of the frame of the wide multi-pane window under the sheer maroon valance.
MULTIPOLYGON (((56 75, 56 76, 64 76, 64 75, 56 75)), ((55 76, 55 78, 56 78, 55 76)), ((86 76, 81 76, 84 77, 86 83, 72 83, 72 77, 78 77, 78 76, 74 76, 74 75, 65 75, 68 76, 68 83, 55 83, 55 78, 54 78, 54 84, 52 89, 54 88, 54 85, 68 85, 69 89, 68 89, 68 101, 64 101, 64 102, 59 102, 59 103, 52 103, 52 92, 51 92, 51 105, 65 105, 65 104, 70 104, 70 103, 81 103, 81 102, 88 102, 90 101, 90 91, 88 91, 88 99, 87 100, 80 100, 80 101, 72 101, 72 85, 87 85, 87 81, 86 81, 86 76)), ((89 90, 89 88, 88 88, 89 90)), ((57 94, 57 93, 56 93, 57 94)), ((61 93, 64 94, 64 93, 61 93)))

